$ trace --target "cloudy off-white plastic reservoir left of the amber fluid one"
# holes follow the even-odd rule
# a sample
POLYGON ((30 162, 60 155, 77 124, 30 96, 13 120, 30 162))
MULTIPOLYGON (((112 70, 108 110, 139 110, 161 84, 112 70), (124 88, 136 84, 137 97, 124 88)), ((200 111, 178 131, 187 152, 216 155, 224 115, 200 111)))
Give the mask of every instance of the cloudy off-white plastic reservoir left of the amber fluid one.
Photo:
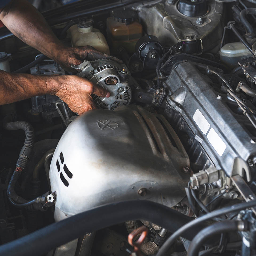
POLYGON ((90 45, 102 53, 109 54, 107 41, 104 35, 93 27, 92 19, 70 27, 70 37, 73 47, 90 45))

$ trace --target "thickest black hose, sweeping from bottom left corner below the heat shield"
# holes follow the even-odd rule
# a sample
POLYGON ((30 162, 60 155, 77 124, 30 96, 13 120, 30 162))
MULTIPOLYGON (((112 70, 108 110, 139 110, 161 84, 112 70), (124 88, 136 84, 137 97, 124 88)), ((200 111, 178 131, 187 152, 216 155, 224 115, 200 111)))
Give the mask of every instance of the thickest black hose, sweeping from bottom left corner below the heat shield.
MULTIPOLYGON (((0 255, 43 255, 85 233, 103 229, 131 219, 146 219, 174 232, 190 222, 190 218, 167 206, 145 200, 130 200, 95 207, 0 246, 0 255)), ((192 240, 206 227, 201 223, 182 234, 192 240)))

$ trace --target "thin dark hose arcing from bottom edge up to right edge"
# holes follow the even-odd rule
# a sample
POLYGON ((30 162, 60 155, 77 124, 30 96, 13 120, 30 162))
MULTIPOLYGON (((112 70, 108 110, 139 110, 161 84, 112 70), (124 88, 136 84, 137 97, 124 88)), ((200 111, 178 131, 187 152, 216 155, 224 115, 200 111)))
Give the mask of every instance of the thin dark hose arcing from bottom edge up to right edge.
POLYGON ((210 213, 207 213, 197 219, 194 219, 193 221, 190 221, 189 223, 182 226, 180 229, 176 230, 169 238, 167 238, 165 243, 161 246, 160 250, 158 251, 157 256, 164 256, 165 253, 171 247, 171 245, 175 242, 175 240, 178 237, 182 236, 181 234, 185 234, 189 230, 193 230, 193 228, 197 227, 197 225, 201 224, 202 222, 221 216, 223 214, 236 212, 236 211, 243 210, 245 208, 253 207, 255 205, 256 205, 256 200, 253 200, 250 202, 243 202, 237 205, 227 206, 218 210, 211 211, 210 213))

